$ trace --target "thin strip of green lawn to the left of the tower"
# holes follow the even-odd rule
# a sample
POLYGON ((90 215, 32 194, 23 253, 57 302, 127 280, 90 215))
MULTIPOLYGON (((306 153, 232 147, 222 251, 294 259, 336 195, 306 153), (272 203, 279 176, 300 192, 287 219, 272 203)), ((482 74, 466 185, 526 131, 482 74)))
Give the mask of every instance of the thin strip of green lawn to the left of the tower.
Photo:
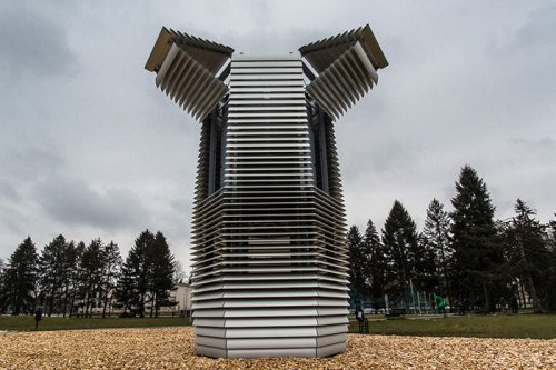
MULTIPOLYGON (((191 321, 178 317, 163 318, 49 318, 43 317, 39 330, 100 329, 100 328, 152 328, 190 326, 191 321)), ((34 316, 2 316, 0 330, 34 330, 34 316)))

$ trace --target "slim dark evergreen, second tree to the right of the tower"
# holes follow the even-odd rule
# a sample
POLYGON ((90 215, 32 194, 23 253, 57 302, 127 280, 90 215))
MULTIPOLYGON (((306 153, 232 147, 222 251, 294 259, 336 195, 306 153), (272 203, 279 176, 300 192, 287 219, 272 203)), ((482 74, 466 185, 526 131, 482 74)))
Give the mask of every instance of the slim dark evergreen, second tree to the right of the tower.
POLYGON ((386 258, 377 228, 371 220, 367 222, 363 244, 367 294, 373 298, 381 298, 384 296, 386 258))

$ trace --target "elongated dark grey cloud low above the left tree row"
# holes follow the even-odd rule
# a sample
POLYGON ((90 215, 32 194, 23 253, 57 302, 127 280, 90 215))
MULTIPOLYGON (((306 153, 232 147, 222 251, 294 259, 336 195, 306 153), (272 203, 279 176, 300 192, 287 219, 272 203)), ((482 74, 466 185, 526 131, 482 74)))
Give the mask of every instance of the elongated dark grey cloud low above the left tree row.
POLYGON ((142 228, 150 219, 139 197, 130 190, 97 191, 73 178, 49 178, 37 184, 34 197, 47 214, 71 226, 117 230, 142 228))

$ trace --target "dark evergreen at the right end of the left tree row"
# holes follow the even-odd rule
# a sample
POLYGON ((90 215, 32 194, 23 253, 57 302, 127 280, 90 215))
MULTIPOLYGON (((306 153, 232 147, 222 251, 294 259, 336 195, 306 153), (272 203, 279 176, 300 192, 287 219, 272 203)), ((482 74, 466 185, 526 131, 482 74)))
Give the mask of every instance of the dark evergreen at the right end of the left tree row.
POLYGON ((152 317, 153 311, 155 317, 158 317, 161 307, 175 304, 169 298, 170 290, 176 289, 173 283, 175 259, 166 237, 160 231, 157 232, 155 240, 149 246, 147 257, 150 262, 148 270, 150 317, 152 317))

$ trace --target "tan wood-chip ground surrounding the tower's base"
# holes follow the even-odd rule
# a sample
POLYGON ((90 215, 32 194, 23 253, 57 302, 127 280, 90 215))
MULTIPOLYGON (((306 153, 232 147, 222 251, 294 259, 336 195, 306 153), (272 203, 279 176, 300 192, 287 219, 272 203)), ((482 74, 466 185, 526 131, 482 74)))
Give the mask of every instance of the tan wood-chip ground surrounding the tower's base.
POLYGON ((192 328, 0 334, 0 369, 556 369, 556 340, 349 334, 325 359, 215 360, 192 328))

